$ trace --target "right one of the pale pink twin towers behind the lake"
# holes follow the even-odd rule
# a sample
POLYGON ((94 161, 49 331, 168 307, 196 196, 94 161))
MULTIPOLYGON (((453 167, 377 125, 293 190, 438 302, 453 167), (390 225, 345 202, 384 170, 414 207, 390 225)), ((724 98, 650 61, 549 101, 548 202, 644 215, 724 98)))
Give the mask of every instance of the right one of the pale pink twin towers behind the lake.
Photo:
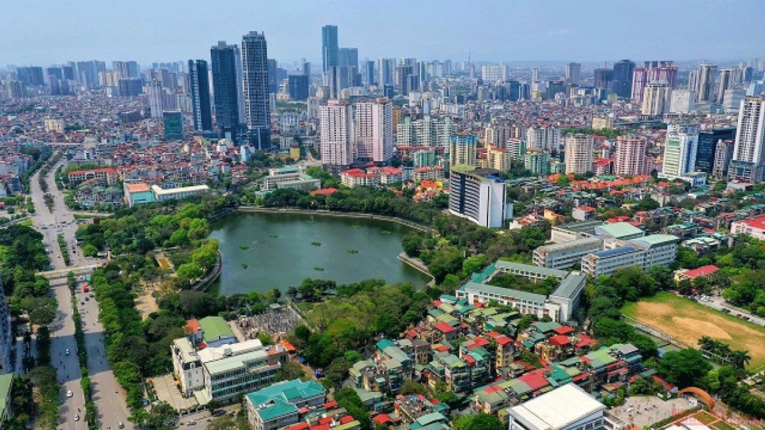
POLYGON ((393 157, 393 102, 376 99, 357 102, 356 157, 373 163, 389 163, 393 157))

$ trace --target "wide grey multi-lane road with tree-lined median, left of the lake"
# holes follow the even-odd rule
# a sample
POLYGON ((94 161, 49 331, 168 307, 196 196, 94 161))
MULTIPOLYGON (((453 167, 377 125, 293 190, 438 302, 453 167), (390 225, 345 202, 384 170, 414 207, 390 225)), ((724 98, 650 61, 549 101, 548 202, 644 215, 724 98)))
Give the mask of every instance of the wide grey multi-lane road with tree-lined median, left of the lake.
MULTIPOLYGON (((59 162, 61 164, 63 162, 59 162)), ((67 265, 63 263, 63 257, 58 245, 57 235, 62 234, 67 241, 67 249, 70 255, 70 266, 81 267, 100 263, 101 260, 83 256, 77 247, 75 233, 77 221, 63 202, 63 193, 56 188, 54 172, 58 165, 48 173, 47 189, 53 196, 53 212, 48 211, 44 202, 44 192, 40 188, 40 172, 30 179, 31 197, 34 202, 35 213, 32 215, 34 228, 43 234, 45 246, 50 251, 50 260, 53 270, 65 270, 67 265)), ((80 386, 80 364, 77 360, 77 342, 74 339, 74 321, 72 319, 72 299, 67 286, 66 278, 57 278, 50 281, 52 296, 58 301, 57 318, 50 326, 50 357, 52 364, 57 369, 58 379, 61 381, 62 404, 59 409, 59 427, 61 430, 86 430, 85 422, 85 399, 82 386, 80 386), (67 349, 70 354, 66 354, 67 349), (67 391, 71 390, 72 397, 67 397, 67 391), (79 420, 76 420, 79 415, 79 420)), ((77 306, 83 317, 85 342, 88 349, 88 373, 93 385, 93 401, 96 403, 98 412, 97 421, 99 428, 117 428, 119 422, 125 423, 125 428, 132 428, 128 422, 129 409, 125 403, 125 393, 117 383, 114 373, 109 368, 106 360, 103 344, 103 326, 98 322, 98 306, 95 299, 88 297, 85 300, 84 293, 78 288, 77 306)))

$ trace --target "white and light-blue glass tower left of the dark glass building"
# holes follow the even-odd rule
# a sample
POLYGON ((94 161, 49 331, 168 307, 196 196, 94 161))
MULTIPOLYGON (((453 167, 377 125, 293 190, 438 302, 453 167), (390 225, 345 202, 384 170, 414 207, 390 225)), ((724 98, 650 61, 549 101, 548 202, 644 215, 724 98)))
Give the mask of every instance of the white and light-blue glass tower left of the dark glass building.
POLYGON ((695 170, 698 125, 670 124, 664 144, 662 176, 675 178, 695 170))

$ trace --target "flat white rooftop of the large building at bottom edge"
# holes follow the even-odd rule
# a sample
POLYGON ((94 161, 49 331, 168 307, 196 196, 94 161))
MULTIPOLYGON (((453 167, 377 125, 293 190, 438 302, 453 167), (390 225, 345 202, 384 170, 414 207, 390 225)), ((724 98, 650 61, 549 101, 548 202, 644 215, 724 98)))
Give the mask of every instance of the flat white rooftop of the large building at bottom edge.
POLYGON ((584 417, 605 409, 574 383, 558 387, 549 393, 510 408, 510 413, 534 428, 565 428, 584 417), (576 405, 572 408, 571 405, 576 405))

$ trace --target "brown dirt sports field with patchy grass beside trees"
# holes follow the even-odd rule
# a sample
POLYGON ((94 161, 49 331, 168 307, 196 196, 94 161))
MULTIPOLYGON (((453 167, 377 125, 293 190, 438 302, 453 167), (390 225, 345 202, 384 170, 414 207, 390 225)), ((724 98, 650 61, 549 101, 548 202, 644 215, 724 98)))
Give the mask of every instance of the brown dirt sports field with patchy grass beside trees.
POLYGON ((749 351, 750 368, 765 365, 765 328, 741 318, 669 293, 627 303, 622 312, 695 348, 698 339, 707 335, 733 349, 749 351))

